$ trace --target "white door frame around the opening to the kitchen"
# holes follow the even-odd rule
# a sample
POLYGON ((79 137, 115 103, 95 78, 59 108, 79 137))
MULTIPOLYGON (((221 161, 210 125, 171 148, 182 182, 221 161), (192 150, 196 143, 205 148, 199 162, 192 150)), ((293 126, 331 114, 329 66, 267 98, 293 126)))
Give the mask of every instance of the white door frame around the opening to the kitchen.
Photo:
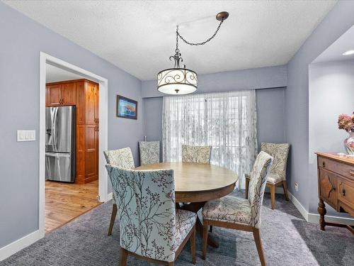
POLYGON ((99 84, 99 147, 98 147, 98 200, 108 201, 108 175, 105 170, 103 150, 108 150, 108 79, 72 65, 57 57, 40 52, 40 159, 39 159, 39 220, 40 238, 45 236, 45 80, 47 64, 81 74, 99 84))

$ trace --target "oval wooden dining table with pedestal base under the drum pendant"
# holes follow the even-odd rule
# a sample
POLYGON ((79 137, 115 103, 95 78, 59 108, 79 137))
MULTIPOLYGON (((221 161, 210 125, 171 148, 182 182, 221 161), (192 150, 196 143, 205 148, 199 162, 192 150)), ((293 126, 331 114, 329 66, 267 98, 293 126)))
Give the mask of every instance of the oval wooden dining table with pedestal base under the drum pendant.
MULTIPOLYGON (((193 162, 160 162, 142 165, 137 170, 172 169, 175 179, 176 202, 188 202, 181 209, 197 213, 206 201, 219 199, 234 190, 237 174, 224 167, 193 162)), ((196 229, 202 235, 202 223, 197 218, 196 229)), ((212 237, 208 244, 217 248, 212 237)))

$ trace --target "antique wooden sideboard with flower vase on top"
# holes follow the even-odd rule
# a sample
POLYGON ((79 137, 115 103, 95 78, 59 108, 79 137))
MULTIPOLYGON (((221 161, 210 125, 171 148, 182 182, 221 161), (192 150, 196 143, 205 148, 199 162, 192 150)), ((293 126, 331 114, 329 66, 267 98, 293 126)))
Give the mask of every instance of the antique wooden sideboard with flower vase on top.
POLYGON ((319 182, 319 226, 348 227, 354 233, 353 226, 327 223, 326 204, 338 212, 354 216, 354 157, 339 156, 336 153, 316 153, 319 182))

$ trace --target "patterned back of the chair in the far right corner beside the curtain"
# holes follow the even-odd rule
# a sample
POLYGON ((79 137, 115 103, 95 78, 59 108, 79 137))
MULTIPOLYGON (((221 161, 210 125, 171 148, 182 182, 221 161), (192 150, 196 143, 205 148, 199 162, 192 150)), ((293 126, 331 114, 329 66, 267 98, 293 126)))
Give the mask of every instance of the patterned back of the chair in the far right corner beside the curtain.
POLYGON ((286 179, 288 143, 261 143, 261 150, 273 157, 270 174, 279 174, 280 181, 286 179))

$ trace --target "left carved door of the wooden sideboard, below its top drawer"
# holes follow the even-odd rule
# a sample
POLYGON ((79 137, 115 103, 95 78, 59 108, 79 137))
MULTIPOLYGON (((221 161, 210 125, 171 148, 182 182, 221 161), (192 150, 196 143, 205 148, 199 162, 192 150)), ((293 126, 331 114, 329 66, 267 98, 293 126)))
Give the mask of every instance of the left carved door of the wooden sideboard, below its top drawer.
POLYGON ((326 170, 319 170, 319 194, 334 209, 337 209, 337 179, 338 176, 326 170))

